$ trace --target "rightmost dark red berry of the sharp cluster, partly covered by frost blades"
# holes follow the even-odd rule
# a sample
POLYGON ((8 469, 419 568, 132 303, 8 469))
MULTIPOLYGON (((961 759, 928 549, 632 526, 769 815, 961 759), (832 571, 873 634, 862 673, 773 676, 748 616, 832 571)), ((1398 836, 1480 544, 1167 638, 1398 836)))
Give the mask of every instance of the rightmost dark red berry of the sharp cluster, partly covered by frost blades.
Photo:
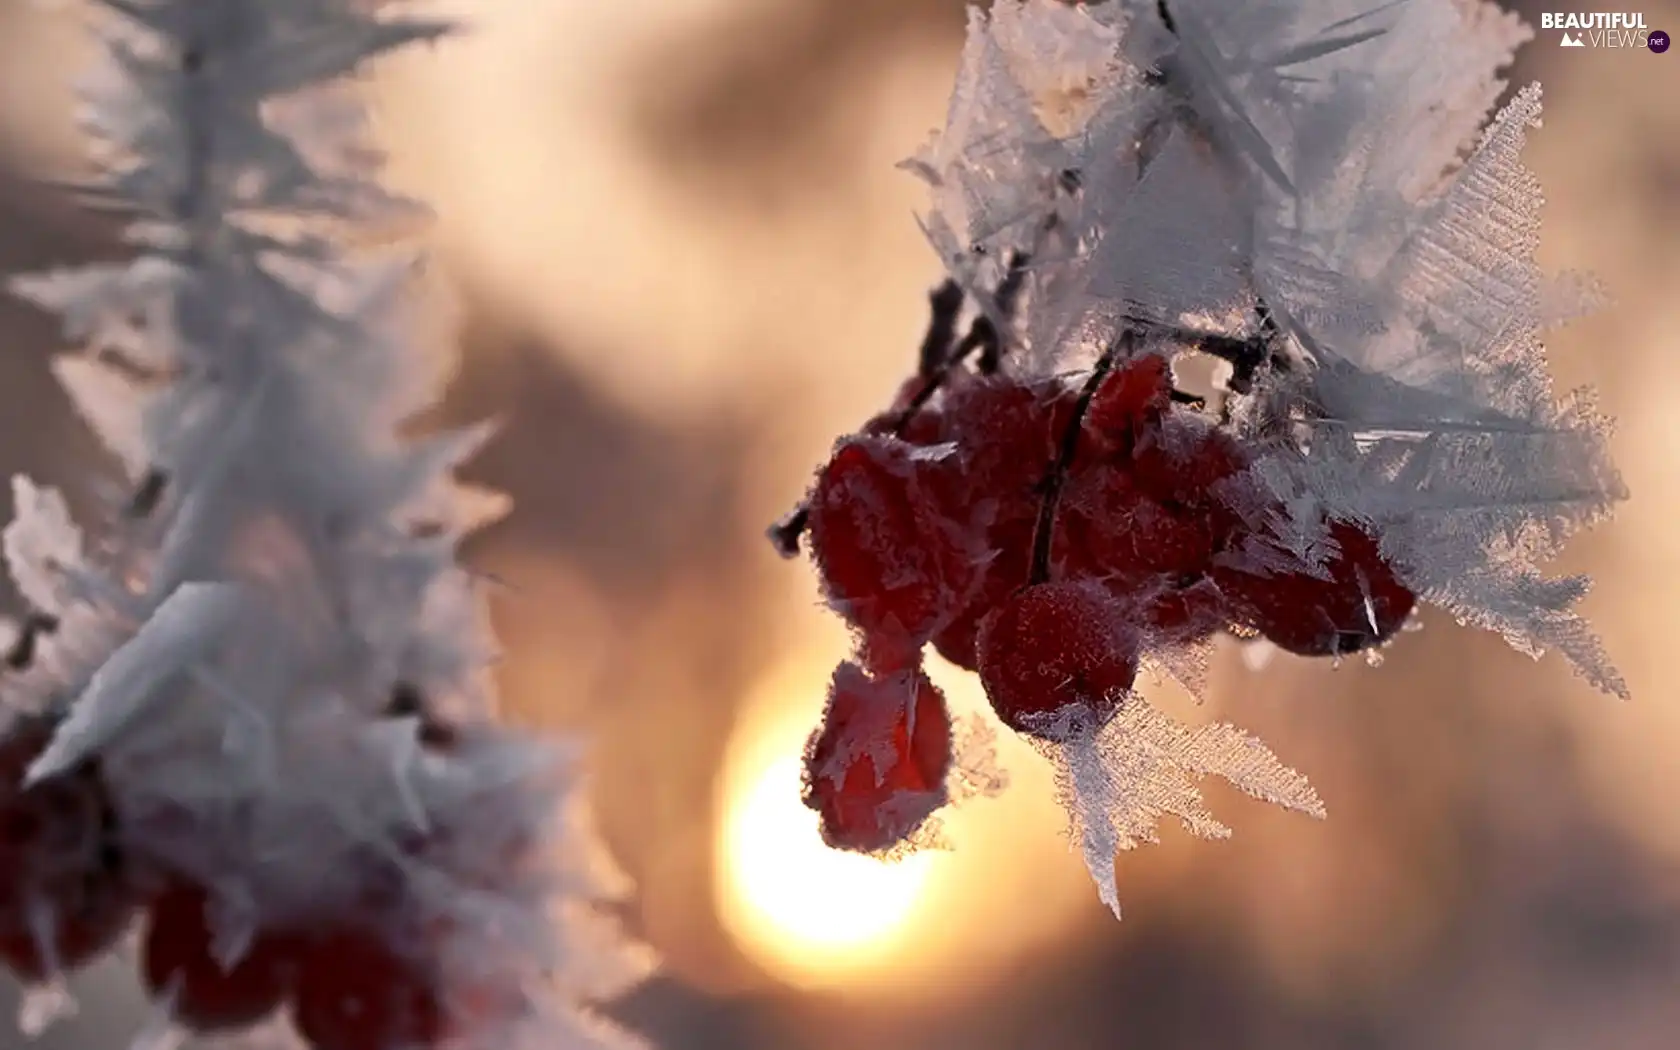
POLYGON ((1386 642, 1411 615, 1416 595, 1383 559, 1374 536, 1346 521, 1331 522, 1337 553, 1329 580, 1299 571, 1262 576, 1220 566, 1215 581, 1238 618, 1273 645, 1304 657, 1327 657, 1386 642))

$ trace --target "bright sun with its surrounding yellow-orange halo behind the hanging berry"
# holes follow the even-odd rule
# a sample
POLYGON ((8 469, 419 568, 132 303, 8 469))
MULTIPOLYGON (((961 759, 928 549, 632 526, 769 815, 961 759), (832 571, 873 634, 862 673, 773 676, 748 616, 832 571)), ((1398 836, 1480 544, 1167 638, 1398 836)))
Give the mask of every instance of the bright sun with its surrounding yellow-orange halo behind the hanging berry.
MULTIPOLYGON (((741 951, 790 984, 927 1000, 969 995, 1089 922, 1097 906, 1048 766, 1010 734, 996 744, 1013 788, 939 815, 953 852, 887 864, 823 845, 800 801, 800 754, 848 638, 822 610, 801 633, 808 647, 748 697, 722 764, 717 911, 741 951)), ((959 717, 984 707, 973 675, 937 659, 929 672, 959 717)))

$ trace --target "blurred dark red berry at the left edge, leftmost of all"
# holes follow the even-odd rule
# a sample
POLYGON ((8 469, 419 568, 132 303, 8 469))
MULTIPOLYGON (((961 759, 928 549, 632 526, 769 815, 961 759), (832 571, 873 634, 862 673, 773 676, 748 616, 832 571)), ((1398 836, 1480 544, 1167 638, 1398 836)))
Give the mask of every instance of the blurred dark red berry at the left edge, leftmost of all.
POLYGON ((52 729, 24 717, 0 739, 0 961, 25 981, 108 951, 141 899, 97 763, 24 785, 52 729))

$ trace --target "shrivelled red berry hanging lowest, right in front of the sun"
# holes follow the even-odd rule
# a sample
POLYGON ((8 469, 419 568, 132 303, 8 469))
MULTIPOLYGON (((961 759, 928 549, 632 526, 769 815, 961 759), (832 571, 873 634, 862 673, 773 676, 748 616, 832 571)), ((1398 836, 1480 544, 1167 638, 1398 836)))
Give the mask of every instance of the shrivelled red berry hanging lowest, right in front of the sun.
POLYGON ((916 667, 870 675, 835 669, 823 721, 805 748, 805 805, 823 842, 880 853, 911 840, 948 800, 951 716, 916 667))

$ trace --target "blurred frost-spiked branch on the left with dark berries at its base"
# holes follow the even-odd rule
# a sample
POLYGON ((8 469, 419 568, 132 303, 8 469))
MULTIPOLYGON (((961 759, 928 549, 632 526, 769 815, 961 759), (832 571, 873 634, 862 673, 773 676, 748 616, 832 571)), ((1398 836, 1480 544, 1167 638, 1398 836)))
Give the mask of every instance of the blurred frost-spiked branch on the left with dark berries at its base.
POLYGON ((398 428, 423 218, 375 181, 341 81, 450 27, 378 0, 96 0, 84 84, 131 260, 22 279, 128 470, 84 536, 13 480, 0 959, 52 990, 131 919, 156 1037, 316 1050, 610 1047, 637 979, 573 803, 578 756, 494 722, 454 482, 484 430, 398 428), (272 1025, 272 1026, 269 1026, 272 1025))

